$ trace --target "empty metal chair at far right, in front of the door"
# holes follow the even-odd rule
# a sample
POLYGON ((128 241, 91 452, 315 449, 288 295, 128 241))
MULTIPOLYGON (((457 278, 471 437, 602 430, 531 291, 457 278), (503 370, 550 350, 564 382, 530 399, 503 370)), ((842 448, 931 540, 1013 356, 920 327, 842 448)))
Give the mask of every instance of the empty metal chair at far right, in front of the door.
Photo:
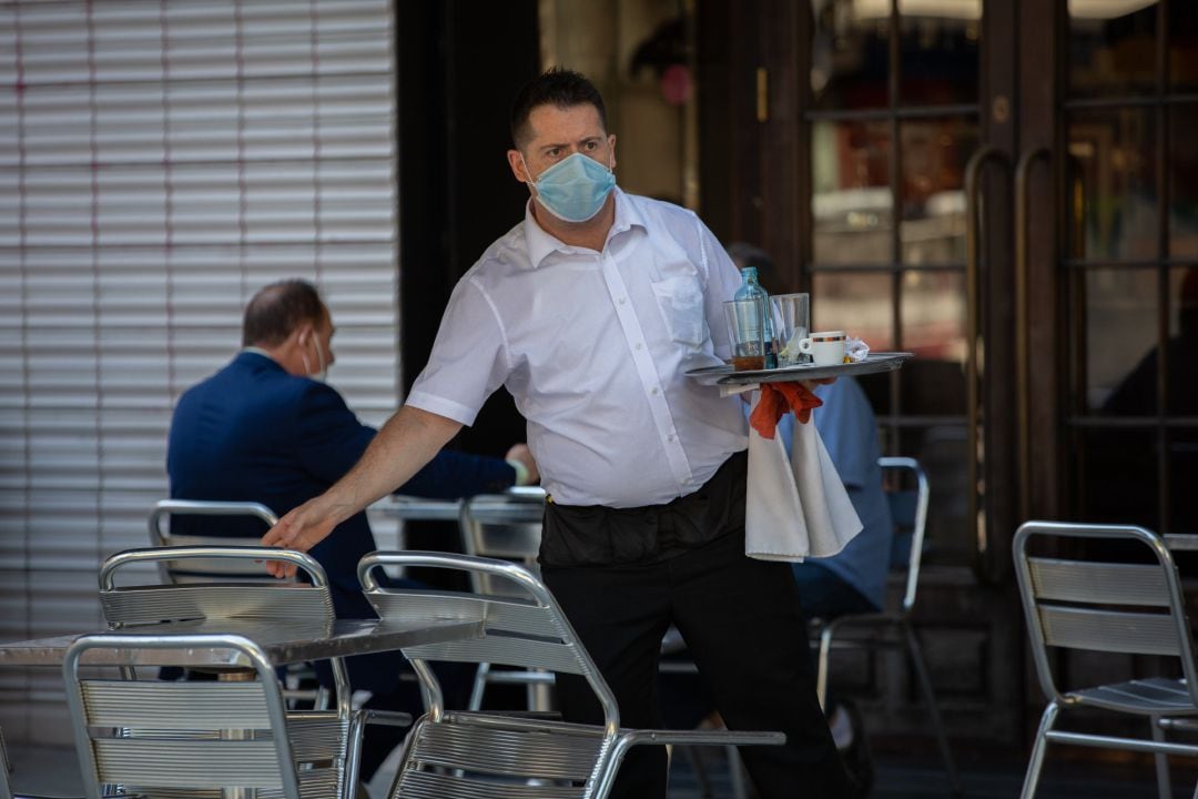
POLYGON ((1181 581, 1164 539, 1143 527, 1029 521, 1016 532, 1014 549, 1031 655, 1048 697, 1021 797, 1035 795, 1048 744, 1152 752, 1160 795, 1173 795, 1166 756, 1196 757, 1198 744, 1166 742, 1164 728, 1198 718, 1198 668, 1181 581), (1089 546, 1071 546, 1069 556, 1030 551, 1037 541, 1063 540, 1089 546), (1144 562, 1103 559, 1095 553, 1096 541, 1133 545, 1144 562), (1069 688, 1060 682, 1064 676, 1054 667, 1049 647, 1157 655, 1162 676, 1069 688), (1149 737, 1058 730, 1060 712, 1076 708, 1139 716, 1148 721, 1149 737))

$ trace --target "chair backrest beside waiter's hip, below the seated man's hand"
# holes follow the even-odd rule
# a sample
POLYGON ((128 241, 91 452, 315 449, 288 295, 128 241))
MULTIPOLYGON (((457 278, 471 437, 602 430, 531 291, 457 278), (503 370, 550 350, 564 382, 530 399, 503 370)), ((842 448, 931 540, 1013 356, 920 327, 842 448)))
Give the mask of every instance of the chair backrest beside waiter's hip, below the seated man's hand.
MULTIPOLYGON (((544 514, 545 492, 540 489, 525 490, 519 497, 478 495, 464 500, 458 517, 462 549, 466 555, 512 561, 537 574, 544 514)), ((512 585, 484 571, 471 571, 470 576, 478 594, 503 593, 512 585)))

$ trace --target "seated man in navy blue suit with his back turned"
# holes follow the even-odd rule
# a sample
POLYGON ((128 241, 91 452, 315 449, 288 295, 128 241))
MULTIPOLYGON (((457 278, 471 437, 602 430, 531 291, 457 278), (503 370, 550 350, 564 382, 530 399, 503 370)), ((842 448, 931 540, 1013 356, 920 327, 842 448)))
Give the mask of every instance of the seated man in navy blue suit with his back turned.
MULTIPOLYGON (((333 332, 328 309, 304 280, 283 280, 254 295, 246 308, 244 349, 188 389, 175 408, 167 452, 173 498, 260 502, 283 515, 322 494, 358 461, 376 431, 322 382, 334 362, 333 332)), ((538 479, 528 448, 518 444, 507 461, 441 452, 400 490, 455 500, 538 479)), ((261 522, 238 517, 177 516, 171 528, 181 534, 262 534, 261 522)), ((311 550, 328 574, 339 617, 375 617, 357 577, 358 561, 375 549, 367 515, 359 513, 311 550)), ((351 658, 347 665, 353 689, 374 695, 367 707, 420 712, 415 684, 400 685, 407 666, 399 653, 351 658)), ((368 728, 363 780, 403 734, 394 727, 368 728)))

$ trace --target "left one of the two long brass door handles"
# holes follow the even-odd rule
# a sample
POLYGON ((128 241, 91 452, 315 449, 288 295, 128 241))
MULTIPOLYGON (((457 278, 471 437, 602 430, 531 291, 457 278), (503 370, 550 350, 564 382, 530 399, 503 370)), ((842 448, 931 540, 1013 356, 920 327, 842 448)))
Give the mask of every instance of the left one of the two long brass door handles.
POLYGON ((1000 580, 1002 561, 996 559, 986 529, 985 512, 979 498, 985 496, 981 467, 985 464, 981 407, 981 377, 985 371, 982 356, 978 350, 981 338, 981 175, 987 162, 1006 164, 1006 156, 986 145, 975 152, 966 164, 966 429, 967 449, 967 521, 972 526, 976 543, 975 570, 982 582, 994 585, 1000 580))

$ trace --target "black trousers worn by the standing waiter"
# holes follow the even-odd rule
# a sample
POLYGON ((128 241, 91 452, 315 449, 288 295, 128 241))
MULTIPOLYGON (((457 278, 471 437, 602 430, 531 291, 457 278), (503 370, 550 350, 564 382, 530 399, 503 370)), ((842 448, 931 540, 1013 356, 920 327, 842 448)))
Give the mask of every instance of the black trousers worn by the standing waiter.
MULTIPOLYGON (((743 453, 734 455, 703 489, 665 506, 551 503, 541 574, 615 692, 623 726, 661 726, 658 659, 673 623, 728 728, 786 733, 785 746, 742 749, 762 799, 842 799, 852 791, 816 698, 791 567, 744 553, 744 470, 743 453)), ((557 691, 567 720, 603 720, 583 679, 559 674, 557 691)), ((662 747, 634 747, 612 797, 664 798, 666 776, 662 747)))

